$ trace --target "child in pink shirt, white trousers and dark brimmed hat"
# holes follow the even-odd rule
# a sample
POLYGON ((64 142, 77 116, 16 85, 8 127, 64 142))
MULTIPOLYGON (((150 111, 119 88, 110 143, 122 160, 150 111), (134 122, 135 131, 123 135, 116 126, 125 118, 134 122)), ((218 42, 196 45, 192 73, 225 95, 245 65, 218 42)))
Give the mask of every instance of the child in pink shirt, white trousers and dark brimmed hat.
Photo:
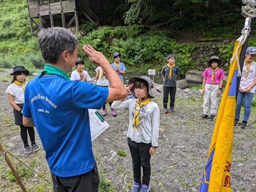
POLYGON ((219 103, 219 96, 222 90, 223 78, 225 77, 224 72, 220 66, 222 60, 217 56, 212 56, 208 61, 208 68, 206 68, 202 74, 202 93, 204 94, 204 108, 202 119, 208 118, 213 121, 216 118, 217 108, 219 103))

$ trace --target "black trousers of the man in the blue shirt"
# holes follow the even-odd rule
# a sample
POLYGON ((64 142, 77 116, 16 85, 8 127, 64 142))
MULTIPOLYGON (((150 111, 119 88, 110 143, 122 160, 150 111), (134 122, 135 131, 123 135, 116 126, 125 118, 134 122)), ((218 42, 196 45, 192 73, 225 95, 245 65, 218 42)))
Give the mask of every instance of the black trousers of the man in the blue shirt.
POLYGON ((88 173, 73 177, 58 177, 52 174, 54 192, 98 192, 100 177, 96 163, 88 173))

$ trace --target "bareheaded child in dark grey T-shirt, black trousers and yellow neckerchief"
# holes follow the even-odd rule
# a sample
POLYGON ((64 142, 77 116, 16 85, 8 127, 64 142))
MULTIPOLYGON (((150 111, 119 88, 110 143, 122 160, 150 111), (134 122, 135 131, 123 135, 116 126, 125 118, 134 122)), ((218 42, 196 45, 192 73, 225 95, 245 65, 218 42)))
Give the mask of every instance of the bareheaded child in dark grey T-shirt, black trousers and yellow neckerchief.
POLYGON ((170 54, 167 56, 168 64, 162 69, 161 75, 164 81, 164 113, 172 113, 174 111, 174 100, 176 94, 176 78, 180 74, 178 66, 175 65, 176 56, 170 54), (168 97, 170 94, 170 109, 167 110, 168 97))

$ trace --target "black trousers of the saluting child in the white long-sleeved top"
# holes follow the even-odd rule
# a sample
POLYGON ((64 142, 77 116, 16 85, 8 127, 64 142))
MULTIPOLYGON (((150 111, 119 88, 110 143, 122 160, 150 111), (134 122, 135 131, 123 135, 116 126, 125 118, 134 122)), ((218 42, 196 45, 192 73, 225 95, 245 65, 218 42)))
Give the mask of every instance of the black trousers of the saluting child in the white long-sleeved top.
POLYGON ((140 167, 143 169, 142 184, 149 185, 151 166, 149 149, 151 143, 136 143, 128 138, 128 146, 132 156, 132 170, 134 182, 141 184, 140 167))

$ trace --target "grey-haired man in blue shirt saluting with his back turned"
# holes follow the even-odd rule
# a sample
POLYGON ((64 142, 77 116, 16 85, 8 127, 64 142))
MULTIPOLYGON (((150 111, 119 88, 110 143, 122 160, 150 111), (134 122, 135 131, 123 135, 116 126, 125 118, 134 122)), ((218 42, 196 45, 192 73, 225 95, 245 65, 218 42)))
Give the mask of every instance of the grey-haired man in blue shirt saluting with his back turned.
POLYGON ((98 170, 92 152, 88 108, 125 98, 118 74, 101 52, 83 46, 108 75, 110 88, 70 81, 78 40, 60 27, 41 29, 38 44, 46 65, 25 89, 24 126, 35 126, 46 152, 54 192, 97 192, 98 170))

